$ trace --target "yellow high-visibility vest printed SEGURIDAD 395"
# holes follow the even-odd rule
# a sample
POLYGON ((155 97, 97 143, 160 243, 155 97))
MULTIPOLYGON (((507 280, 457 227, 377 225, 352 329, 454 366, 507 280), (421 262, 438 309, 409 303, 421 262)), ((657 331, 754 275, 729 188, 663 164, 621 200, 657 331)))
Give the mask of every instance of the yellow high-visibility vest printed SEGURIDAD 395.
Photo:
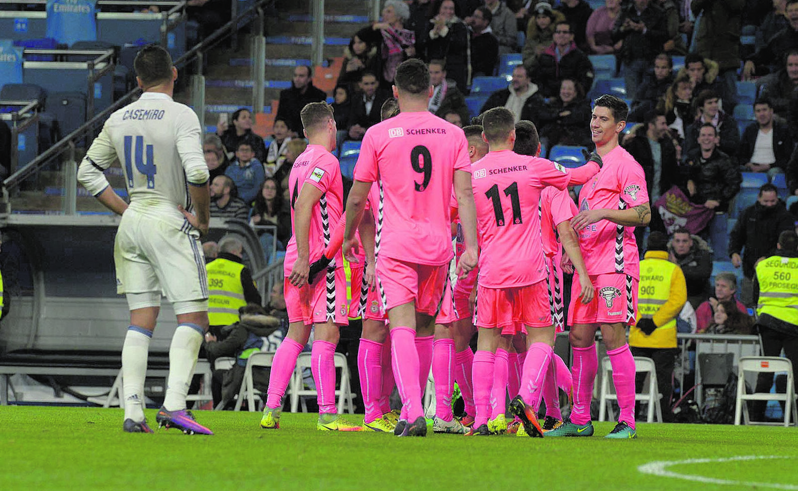
POLYGON ((212 326, 238 322, 239 308, 247 304, 241 285, 244 265, 229 259, 214 259, 205 265, 207 271, 207 318, 212 326))

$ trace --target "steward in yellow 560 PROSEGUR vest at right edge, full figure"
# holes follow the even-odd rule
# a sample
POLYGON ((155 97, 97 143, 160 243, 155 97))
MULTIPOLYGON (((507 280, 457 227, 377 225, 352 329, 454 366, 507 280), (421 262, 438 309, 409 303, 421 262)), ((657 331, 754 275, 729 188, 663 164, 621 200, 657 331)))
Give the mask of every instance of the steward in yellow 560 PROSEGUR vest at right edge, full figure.
MULTIPOLYGON (((753 297, 757 298, 757 327, 762 355, 784 355, 798 367, 798 237, 792 230, 779 234, 776 254, 757 262, 753 297)), ((757 392, 768 392, 773 374, 760 373, 757 392)), ((798 387, 798 383, 796 383, 798 387)), ((753 403, 752 421, 764 421, 764 401, 753 403)))

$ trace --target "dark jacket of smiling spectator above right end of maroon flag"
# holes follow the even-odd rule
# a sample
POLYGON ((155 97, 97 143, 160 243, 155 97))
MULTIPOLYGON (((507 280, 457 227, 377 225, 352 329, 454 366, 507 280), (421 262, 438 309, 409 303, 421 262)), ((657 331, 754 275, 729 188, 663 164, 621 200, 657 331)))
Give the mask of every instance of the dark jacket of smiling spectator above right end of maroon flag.
POLYGON ((709 159, 701 156, 701 148, 690 151, 685 159, 685 174, 696 184, 696 195, 690 201, 704 204, 714 199, 721 203, 715 211, 729 209, 729 201, 740 191, 743 180, 737 164, 717 148, 709 159))

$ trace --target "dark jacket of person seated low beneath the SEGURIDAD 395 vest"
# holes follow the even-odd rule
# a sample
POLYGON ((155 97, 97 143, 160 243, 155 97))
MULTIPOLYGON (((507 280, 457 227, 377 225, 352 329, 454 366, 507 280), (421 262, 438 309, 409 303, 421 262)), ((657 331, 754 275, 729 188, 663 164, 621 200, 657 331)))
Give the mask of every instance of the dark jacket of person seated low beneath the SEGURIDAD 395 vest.
MULTIPOLYGON (((245 315, 239 322, 222 328, 219 336, 222 340, 205 343, 209 359, 221 356, 232 356, 236 359, 235 365, 224 374, 223 400, 230 401, 239 393, 244 368, 247 366, 247 361, 239 358, 241 353, 251 348, 262 348, 263 338, 275 332, 279 326, 280 320, 273 316, 245 315)), ((259 391, 266 392, 269 388, 269 369, 253 367, 252 383, 259 391)))

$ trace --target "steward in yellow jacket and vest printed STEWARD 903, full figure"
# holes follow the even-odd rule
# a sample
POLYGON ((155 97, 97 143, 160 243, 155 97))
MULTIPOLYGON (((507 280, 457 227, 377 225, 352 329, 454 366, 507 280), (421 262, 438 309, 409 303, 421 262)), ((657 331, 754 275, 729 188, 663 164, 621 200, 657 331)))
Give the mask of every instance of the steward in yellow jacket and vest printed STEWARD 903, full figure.
MULTIPOLYGON (((646 245, 646 256, 640 261, 638 321, 629 329, 629 349, 634 356, 654 360, 662 420, 670 422, 674 419, 671 379, 678 354, 676 318, 687 301, 687 286, 681 268, 668 261, 668 236, 651 232, 646 245)), ((645 374, 635 378, 638 392, 645 378, 645 374)))

